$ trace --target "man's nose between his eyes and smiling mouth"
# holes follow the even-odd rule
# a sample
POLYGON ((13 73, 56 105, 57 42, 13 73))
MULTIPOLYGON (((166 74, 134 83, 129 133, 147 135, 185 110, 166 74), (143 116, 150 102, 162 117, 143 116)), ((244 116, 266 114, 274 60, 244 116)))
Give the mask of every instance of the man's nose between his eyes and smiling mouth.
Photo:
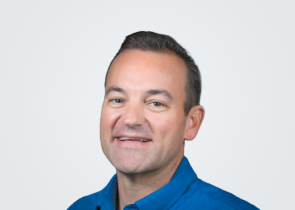
POLYGON ((145 123, 143 108, 140 105, 126 105, 121 121, 129 127, 141 126, 145 123))

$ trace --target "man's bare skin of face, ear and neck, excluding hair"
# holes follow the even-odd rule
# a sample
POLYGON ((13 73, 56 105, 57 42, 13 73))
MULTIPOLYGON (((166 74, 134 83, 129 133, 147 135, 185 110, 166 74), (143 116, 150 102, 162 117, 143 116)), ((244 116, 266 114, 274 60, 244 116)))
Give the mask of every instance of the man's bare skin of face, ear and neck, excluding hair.
POLYGON ((132 49, 112 63, 100 139, 117 171, 117 209, 167 184, 183 158, 184 141, 197 135, 204 109, 194 106, 185 116, 185 84, 185 63, 172 53, 132 49))

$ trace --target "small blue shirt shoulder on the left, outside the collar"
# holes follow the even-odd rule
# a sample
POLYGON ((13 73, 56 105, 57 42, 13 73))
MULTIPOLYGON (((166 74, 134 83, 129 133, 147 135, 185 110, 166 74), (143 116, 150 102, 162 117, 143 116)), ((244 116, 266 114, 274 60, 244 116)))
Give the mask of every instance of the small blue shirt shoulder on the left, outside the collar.
POLYGON ((91 195, 84 196, 74 202, 67 210, 82 210, 89 209, 94 210, 97 206, 97 201, 104 197, 101 191, 93 193, 91 195))

